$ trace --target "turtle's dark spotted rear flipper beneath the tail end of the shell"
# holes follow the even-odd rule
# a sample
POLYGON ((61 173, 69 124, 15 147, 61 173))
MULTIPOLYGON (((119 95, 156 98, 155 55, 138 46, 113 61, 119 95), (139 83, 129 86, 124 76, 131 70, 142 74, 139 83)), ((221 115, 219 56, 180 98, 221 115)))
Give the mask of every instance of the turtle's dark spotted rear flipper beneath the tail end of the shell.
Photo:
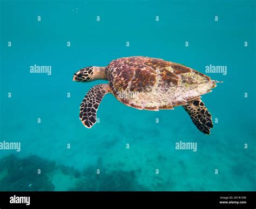
POLYGON ((213 127, 212 116, 205 107, 205 104, 198 98, 187 102, 187 105, 183 107, 198 130, 204 134, 210 134, 210 130, 213 127))

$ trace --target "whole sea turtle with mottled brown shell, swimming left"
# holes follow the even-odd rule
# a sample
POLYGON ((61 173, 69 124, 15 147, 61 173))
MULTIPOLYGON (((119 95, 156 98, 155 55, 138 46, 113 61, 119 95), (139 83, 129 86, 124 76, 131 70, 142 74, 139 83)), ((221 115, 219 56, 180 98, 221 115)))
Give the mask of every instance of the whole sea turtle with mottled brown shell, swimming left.
POLYGON ((106 67, 84 67, 73 81, 108 80, 92 87, 80 105, 80 120, 85 127, 96 123, 96 112, 107 93, 124 105, 145 110, 183 106, 193 123, 204 134, 213 127, 211 114, 200 96, 211 92, 216 82, 190 67, 163 59, 124 57, 106 67))

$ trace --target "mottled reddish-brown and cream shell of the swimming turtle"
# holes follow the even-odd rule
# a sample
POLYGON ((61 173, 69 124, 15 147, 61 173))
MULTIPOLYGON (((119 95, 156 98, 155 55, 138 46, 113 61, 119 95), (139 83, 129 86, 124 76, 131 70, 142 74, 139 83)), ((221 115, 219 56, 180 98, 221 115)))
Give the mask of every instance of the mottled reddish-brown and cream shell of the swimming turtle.
POLYGON ((113 60, 106 74, 113 95, 138 109, 172 109, 216 86, 208 76, 189 67, 148 57, 113 60))

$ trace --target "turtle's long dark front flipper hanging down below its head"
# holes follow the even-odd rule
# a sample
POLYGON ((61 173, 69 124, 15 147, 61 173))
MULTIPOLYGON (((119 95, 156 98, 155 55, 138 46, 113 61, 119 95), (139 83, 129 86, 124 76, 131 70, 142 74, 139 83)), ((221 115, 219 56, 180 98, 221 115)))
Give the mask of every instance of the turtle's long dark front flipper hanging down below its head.
POLYGON ((96 113, 105 94, 110 92, 108 84, 93 86, 84 97, 80 105, 80 120, 86 128, 91 128, 96 123, 96 113))

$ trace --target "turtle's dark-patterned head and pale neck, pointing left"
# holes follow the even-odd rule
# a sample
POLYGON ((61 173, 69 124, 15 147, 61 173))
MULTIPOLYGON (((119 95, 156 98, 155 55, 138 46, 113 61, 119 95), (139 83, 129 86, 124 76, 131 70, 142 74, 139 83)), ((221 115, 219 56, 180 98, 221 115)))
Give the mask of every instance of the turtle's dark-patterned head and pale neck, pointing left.
POLYGON ((106 80, 105 67, 84 67, 73 75, 73 81, 89 82, 94 80, 106 80))

